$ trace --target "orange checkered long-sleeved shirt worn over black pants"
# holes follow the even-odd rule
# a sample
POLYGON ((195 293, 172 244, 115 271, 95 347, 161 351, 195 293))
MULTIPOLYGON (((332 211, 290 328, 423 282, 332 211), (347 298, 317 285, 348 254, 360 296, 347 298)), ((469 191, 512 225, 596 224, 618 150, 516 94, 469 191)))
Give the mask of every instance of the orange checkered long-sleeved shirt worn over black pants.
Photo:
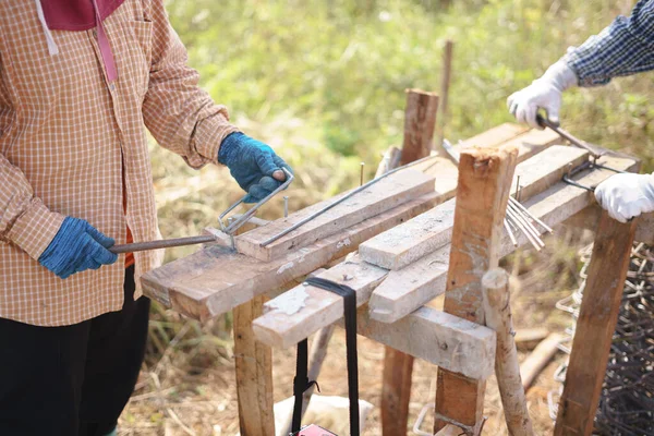
MULTIPOLYGON (((95 29, 52 31, 51 56, 35 2, 0 1, 2 318, 61 326, 120 310, 123 257, 65 280, 38 264, 64 216, 117 243, 128 227, 135 241, 157 239, 144 124, 193 168, 217 164, 220 142, 238 131, 197 87, 162 0, 125 0, 104 26, 118 68, 111 84, 95 29)), ((157 257, 135 253, 137 282, 157 257)))

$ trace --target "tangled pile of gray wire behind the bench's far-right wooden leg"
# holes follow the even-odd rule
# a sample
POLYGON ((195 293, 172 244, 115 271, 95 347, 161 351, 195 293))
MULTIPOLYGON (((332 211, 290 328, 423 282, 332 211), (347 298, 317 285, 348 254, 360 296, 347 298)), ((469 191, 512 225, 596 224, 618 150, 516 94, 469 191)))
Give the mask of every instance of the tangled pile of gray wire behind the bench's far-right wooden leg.
MULTIPOLYGON (((556 305, 572 316, 573 325, 566 330, 569 343, 574 335, 592 249, 590 245, 580 252, 581 287, 556 305)), ((570 352, 566 344, 560 349, 570 352)), ((555 379, 561 387, 548 395, 553 419, 556 419, 566 370, 567 363, 556 371, 555 379)), ((654 247, 643 243, 633 245, 595 416, 595 434, 654 436, 654 247)))

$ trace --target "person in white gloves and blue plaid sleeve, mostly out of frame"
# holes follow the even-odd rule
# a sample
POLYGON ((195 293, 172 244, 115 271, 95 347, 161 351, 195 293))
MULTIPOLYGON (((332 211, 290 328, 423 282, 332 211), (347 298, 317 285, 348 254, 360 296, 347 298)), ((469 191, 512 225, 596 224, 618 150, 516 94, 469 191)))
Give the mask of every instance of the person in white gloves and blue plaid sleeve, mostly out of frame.
MULTIPOLYGON (((618 16, 598 35, 590 37, 549 66, 542 77, 508 98, 518 121, 543 129, 538 109, 558 122, 561 94, 573 86, 598 86, 613 77, 654 70, 654 0, 640 0, 631 16, 618 16)), ((608 214, 627 220, 654 211, 654 175, 615 174, 601 183, 595 197, 608 214)))

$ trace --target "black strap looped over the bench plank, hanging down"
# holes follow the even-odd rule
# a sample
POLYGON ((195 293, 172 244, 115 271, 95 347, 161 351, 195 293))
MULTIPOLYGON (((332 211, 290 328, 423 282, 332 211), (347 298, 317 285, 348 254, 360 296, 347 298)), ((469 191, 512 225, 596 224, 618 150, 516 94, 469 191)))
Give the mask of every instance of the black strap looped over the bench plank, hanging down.
MULTIPOLYGON (((335 281, 311 277, 306 284, 334 292, 343 298, 343 313, 346 317, 346 346, 348 360, 348 391, 350 397, 350 435, 359 436, 359 360, 356 358, 356 292, 344 284, 335 281)), ((295 378, 293 379, 293 395, 295 404, 293 407, 293 422, 291 432, 300 431, 302 419, 302 396, 315 382, 308 382, 307 376, 308 342, 306 339, 298 343, 298 361, 295 365, 295 378)))

